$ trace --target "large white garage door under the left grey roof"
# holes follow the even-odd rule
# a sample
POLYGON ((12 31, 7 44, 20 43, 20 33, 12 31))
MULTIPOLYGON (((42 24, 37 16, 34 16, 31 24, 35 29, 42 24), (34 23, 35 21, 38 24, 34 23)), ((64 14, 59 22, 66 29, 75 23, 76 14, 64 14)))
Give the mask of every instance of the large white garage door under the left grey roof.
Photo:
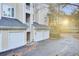
POLYGON ((8 44, 9 48, 20 47, 25 44, 24 33, 23 32, 9 33, 8 41, 9 41, 9 44, 8 44))

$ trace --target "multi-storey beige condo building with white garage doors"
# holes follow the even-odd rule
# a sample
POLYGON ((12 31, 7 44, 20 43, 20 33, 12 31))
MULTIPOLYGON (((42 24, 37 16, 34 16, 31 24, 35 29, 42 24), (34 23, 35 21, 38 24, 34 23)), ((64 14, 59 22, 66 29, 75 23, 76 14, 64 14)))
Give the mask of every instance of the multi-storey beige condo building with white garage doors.
POLYGON ((49 38, 48 4, 0 3, 0 52, 49 38))

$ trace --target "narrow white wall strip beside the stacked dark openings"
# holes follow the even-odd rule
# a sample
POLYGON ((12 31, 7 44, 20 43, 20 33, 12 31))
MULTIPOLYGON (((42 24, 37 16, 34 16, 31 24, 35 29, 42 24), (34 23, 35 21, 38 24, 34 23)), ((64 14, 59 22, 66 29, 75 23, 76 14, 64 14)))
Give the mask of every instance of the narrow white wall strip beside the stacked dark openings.
POLYGON ((30 3, 29 8, 30 8, 30 10, 28 10, 25 7, 25 13, 30 14, 30 22, 29 22, 29 24, 28 23, 26 23, 26 24, 29 26, 28 29, 27 29, 27 32, 30 32, 30 42, 32 42, 33 41, 33 26, 32 26, 32 24, 33 24, 33 13, 34 13, 33 12, 33 4, 32 3, 30 3))

